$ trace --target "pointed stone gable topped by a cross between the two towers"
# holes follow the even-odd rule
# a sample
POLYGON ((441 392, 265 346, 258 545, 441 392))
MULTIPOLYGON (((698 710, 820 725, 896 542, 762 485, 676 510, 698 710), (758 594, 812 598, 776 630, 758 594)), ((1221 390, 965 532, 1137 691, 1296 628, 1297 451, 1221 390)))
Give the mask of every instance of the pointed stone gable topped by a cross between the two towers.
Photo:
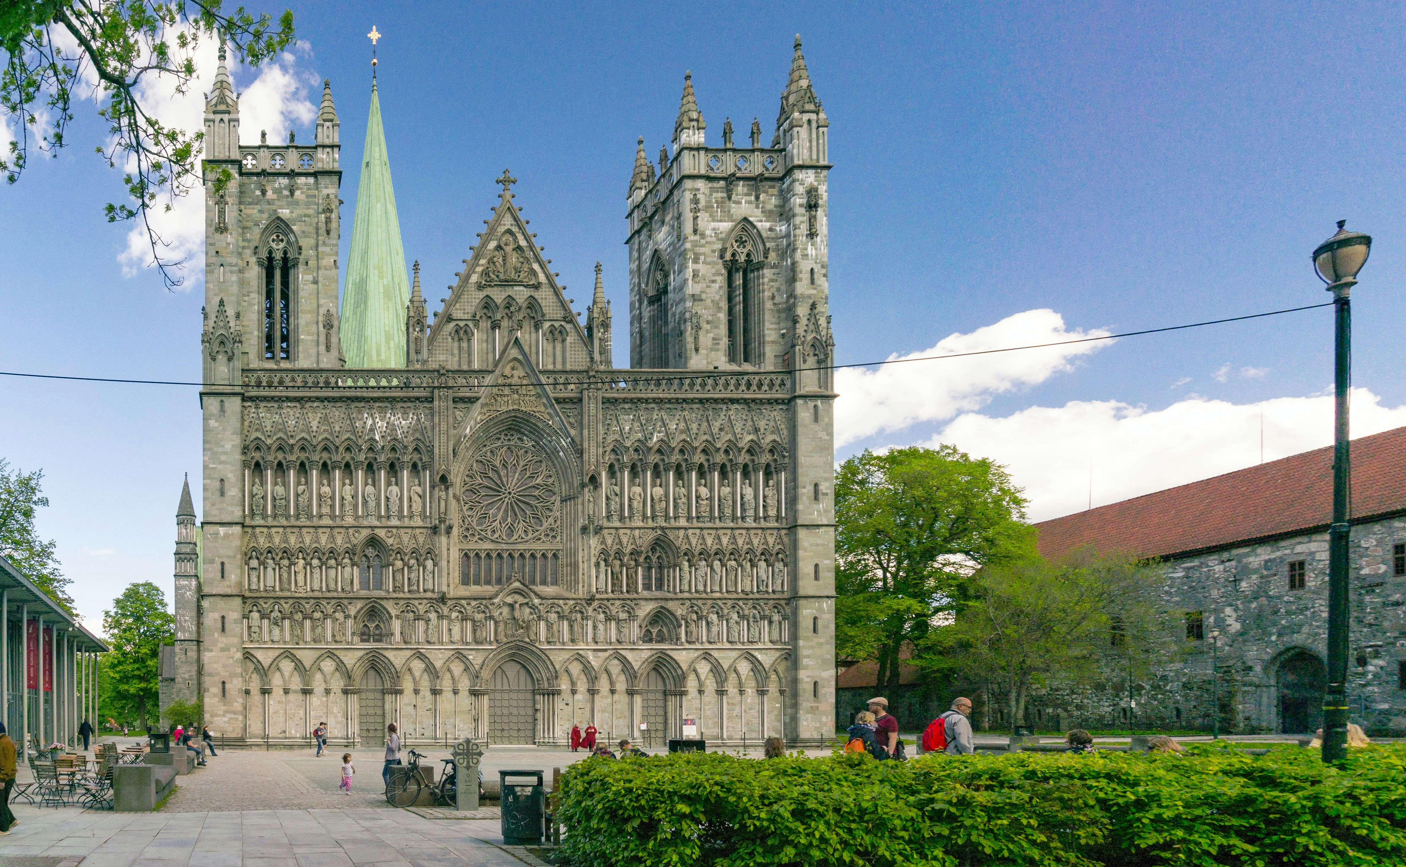
MULTIPOLYGON (((472 249, 474 254, 468 259, 464 270, 460 271, 458 281, 451 287, 453 292, 444 302, 444 306, 439 311, 439 316, 434 318, 434 325, 430 326, 427 347, 434 347, 434 341, 439 339, 440 332, 450 327, 449 323, 451 320, 463 322, 465 319, 477 318, 479 305, 484 302, 484 296, 492 298, 498 309, 502 309, 503 298, 510 296, 513 289, 519 289, 537 299, 546 320, 569 320, 572 333, 576 340, 581 341, 581 346, 586 348, 586 354, 589 356, 591 343, 586 340, 586 332, 576 319, 575 311, 567 302, 567 296, 557 284, 547 260, 541 254, 541 249, 533 237, 533 233, 527 229, 527 222, 523 219, 522 212, 513 202, 513 193, 509 187, 516 181, 508 176, 506 169, 503 170, 503 176, 508 181, 505 183, 499 178, 499 183, 503 184, 503 190, 498 194, 498 207, 494 209, 494 216, 488 221, 482 235, 479 235, 478 242, 472 249), (533 280, 536 280, 536 285, 516 282, 510 278, 503 280, 502 282, 491 281, 485 285, 485 270, 489 266, 494 253, 498 250, 505 232, 512 232, 516 246, 527 253, 527 260, 536 271, 533 277, 533 280)), ((503 336, 506 337, 506 334, 503 336)))

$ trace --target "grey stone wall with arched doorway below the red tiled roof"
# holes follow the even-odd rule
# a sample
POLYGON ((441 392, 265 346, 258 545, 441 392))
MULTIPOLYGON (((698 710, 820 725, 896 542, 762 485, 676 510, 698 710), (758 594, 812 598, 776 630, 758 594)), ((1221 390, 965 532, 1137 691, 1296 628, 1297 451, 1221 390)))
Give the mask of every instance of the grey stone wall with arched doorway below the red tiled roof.
MULTIPOLYGON (((1406 732, 1406 517, 1354 523, 1351 552, 1351 721, 1399 735, 1406 732)), ((1175 635, 1152 676, 1132 679, 1130 698, 1128 673, 1116 669, 1092 684, 1035 694, 1028 722, 1067 729, 1126 728, 1132 721, 1209 731, 1219 691, 1223 732, 1312 732, 1322 725, 1326 531, 1177 558, 1160 569, 1175 635)), ((993 724, 1008 724, 1000 708, 993 708, 993 724)))

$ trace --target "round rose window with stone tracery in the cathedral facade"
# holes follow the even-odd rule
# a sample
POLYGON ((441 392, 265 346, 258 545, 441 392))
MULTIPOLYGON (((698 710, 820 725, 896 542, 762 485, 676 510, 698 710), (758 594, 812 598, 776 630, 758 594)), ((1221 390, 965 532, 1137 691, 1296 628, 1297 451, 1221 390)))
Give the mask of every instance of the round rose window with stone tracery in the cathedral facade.
POLYGON ((561 538, 557 478, 546 455, 526 441, 479 451, 464 475, 464 541, 524 544, 561 538))

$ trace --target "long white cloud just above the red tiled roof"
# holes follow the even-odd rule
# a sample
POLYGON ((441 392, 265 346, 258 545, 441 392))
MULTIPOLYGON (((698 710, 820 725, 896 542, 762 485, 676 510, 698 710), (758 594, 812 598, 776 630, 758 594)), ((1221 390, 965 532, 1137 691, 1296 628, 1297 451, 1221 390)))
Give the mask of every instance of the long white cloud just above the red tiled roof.
MULTIPOLYGON (((1353 389, 1353 436, 1406 424, 1406 406, 1382 406, 1353 389)), ((966 413, 924 445, 950 443, 974 457, 1004 464, 1031 499, 1040 521, 1128 497, 1184 485, 1333 441, 1333 395, 1275 398, 1237 405, 1188 396, 1160 410, 1119 400, 1076 400, 1032 406, 1002 419, 966 413)))

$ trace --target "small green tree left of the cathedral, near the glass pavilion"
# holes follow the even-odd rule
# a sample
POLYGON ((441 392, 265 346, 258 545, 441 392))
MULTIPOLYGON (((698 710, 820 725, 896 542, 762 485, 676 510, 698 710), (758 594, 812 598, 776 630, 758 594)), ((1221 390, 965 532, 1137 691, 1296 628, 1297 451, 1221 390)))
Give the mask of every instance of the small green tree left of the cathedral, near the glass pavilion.
POLYGON ((118 722, 135 717, 141 728, 146 728, 148 711, 157 710, 156 662, 162 645, 172 642, 173 627, 166 597, 152 582, 128 585, 112 601, 112 608, 103 613, 103 630, 112 648, 105 662, 118 722))

